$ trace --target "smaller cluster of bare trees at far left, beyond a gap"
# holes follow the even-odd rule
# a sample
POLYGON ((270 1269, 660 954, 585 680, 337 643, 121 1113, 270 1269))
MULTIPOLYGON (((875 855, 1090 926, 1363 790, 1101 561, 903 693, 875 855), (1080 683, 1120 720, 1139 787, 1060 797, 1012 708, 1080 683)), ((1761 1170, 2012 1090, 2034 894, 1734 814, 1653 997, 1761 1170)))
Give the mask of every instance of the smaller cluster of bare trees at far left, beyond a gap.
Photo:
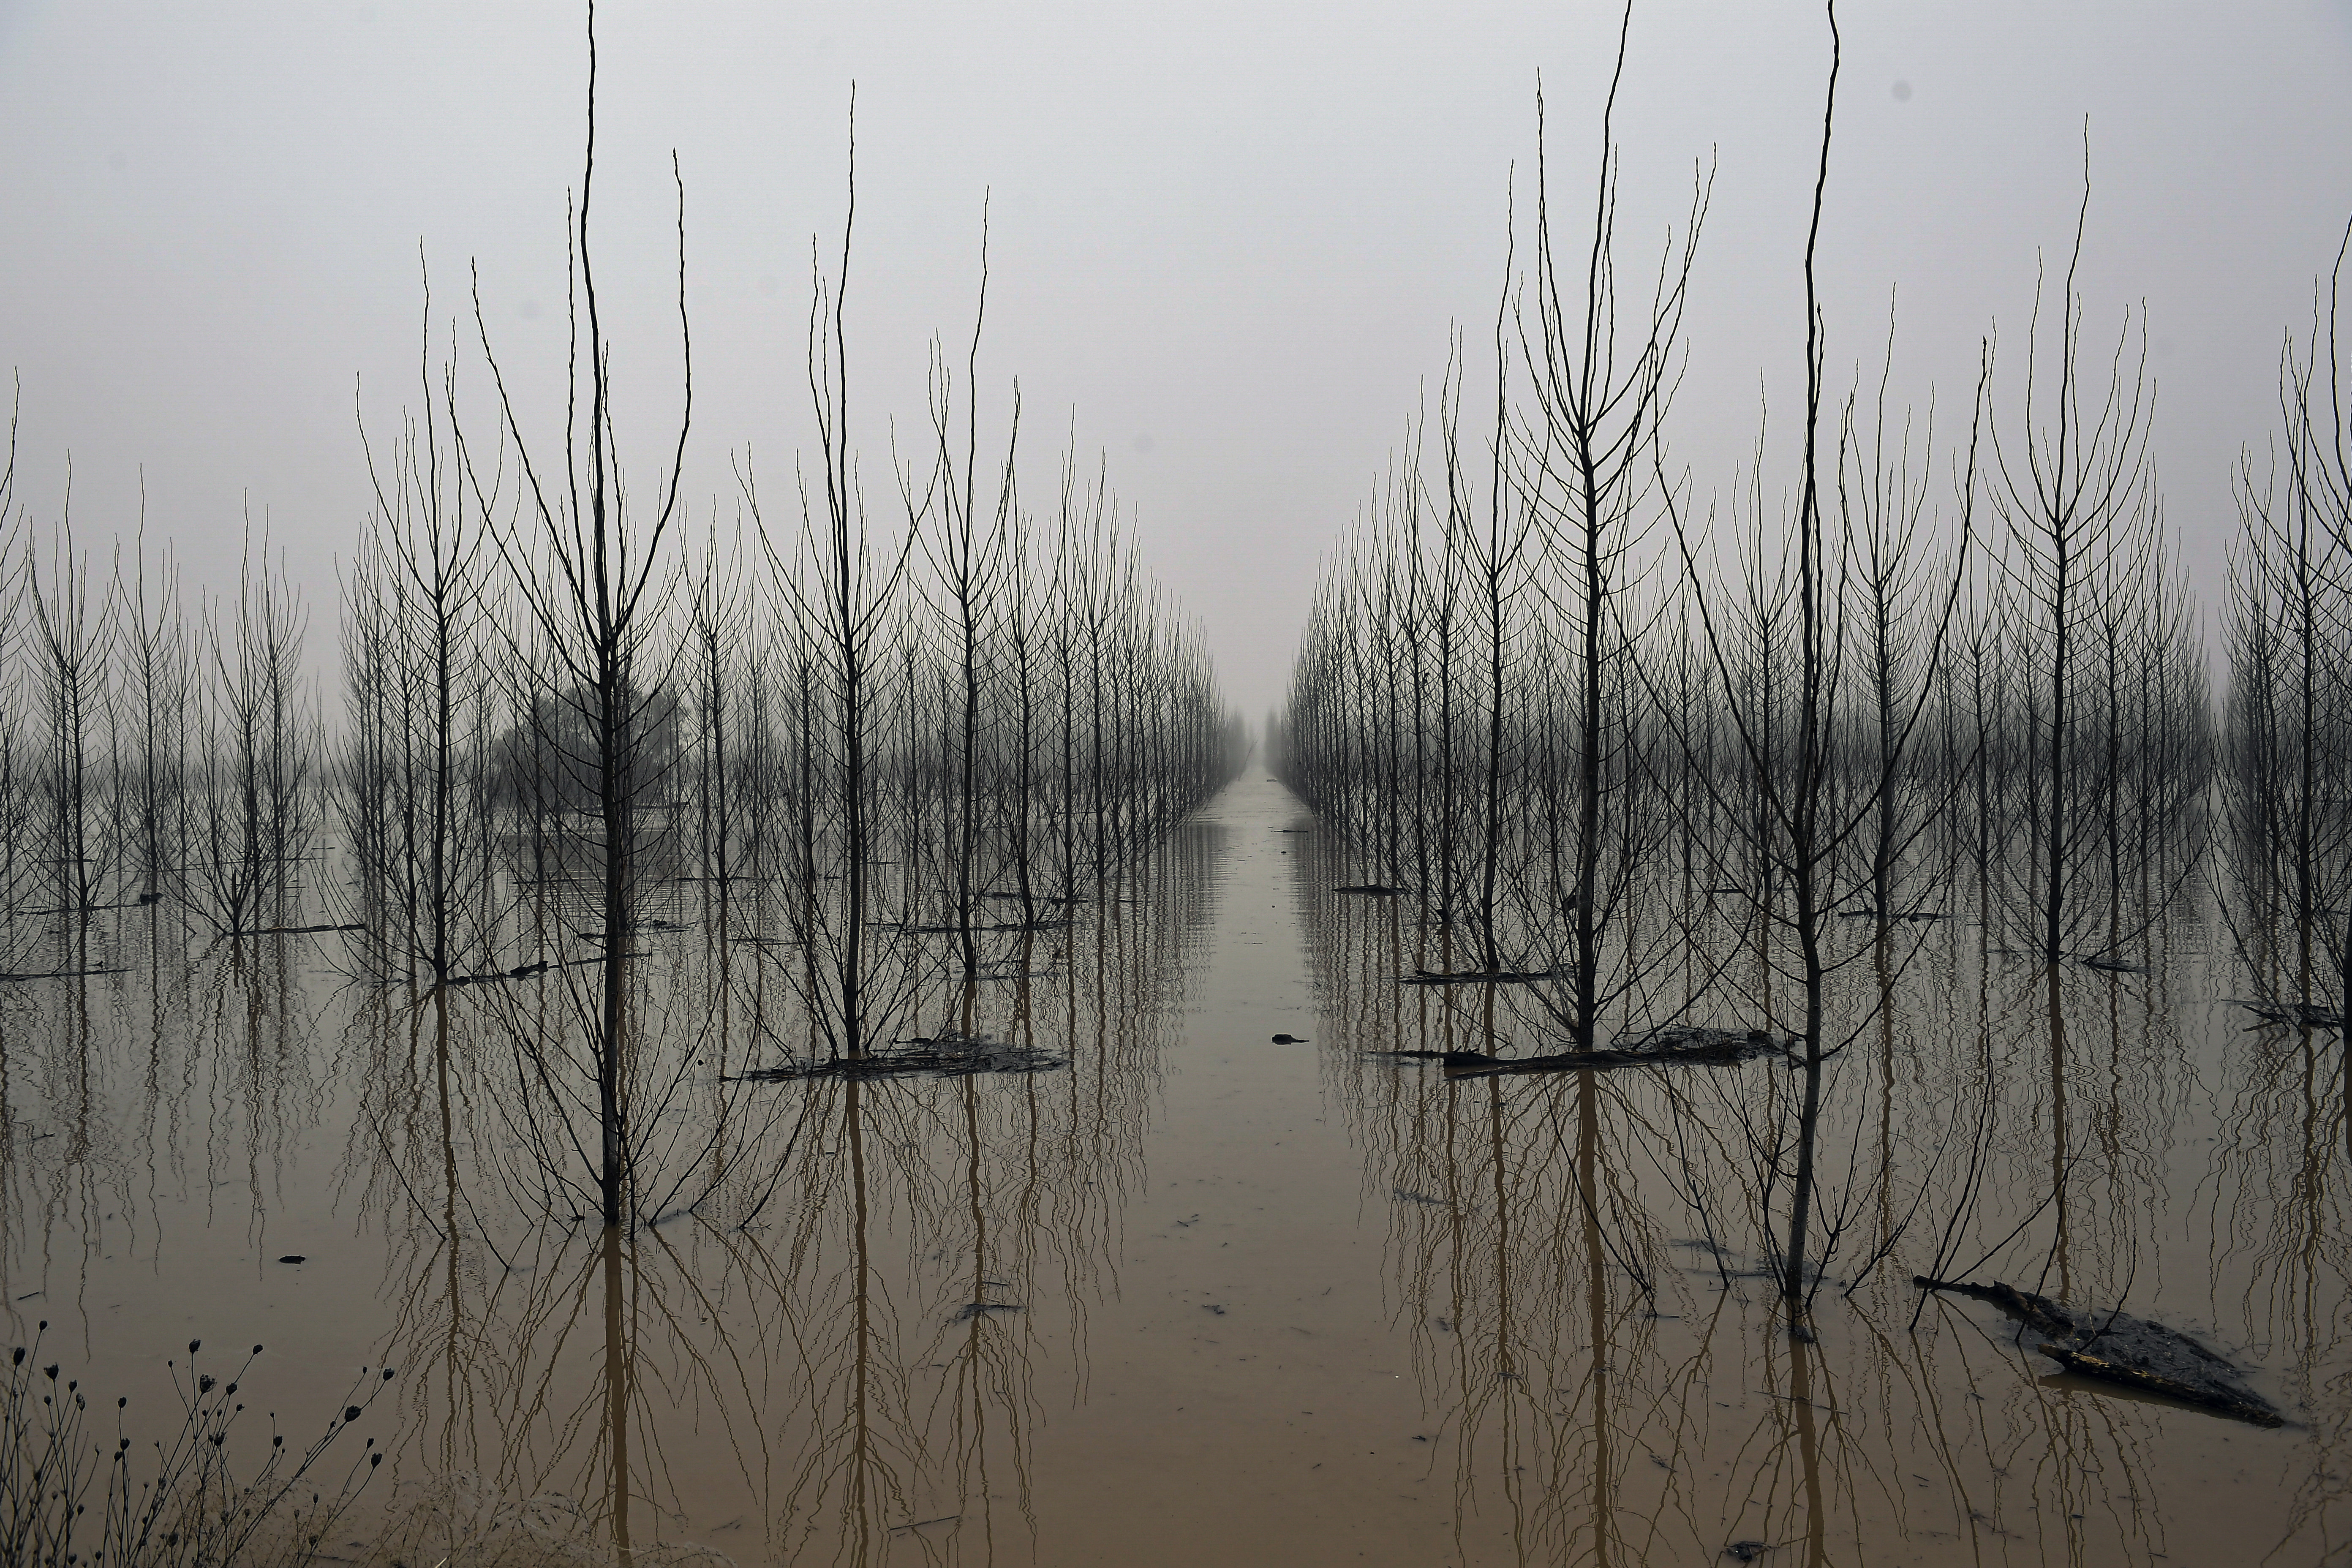
POLYGON ((181 595, 146 531, 125 562, 40 531, 0 473, 0 900, 7 971, 85 961, 99 910, 172 898, 200 926, 282 924, 322 809, 308 611, 266 538, 228 592, 181 595), (49 924, 33 924, 35 919, 49 924))

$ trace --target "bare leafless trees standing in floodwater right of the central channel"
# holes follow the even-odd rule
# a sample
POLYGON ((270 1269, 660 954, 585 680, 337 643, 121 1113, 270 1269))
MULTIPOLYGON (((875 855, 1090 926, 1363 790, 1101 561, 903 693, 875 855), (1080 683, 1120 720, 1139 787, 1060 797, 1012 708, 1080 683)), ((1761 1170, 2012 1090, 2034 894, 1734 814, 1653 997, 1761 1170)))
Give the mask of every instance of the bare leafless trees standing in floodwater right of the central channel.
POLYGON ((2220 816, 2244 851, 2232 907, 2249 933, 2284 917, 2284 947, 2260 938, 2281 954, 2274 994, 2343 1013, 2336 289, 2286 350, 2284 475, 2244 470, 2218 719, 2154 480, 2145 315, 2093 329, 2074 284, 2089 179, 2063 284, 2037 284, 2023 353, 1985 336, 1959 440, 1933 407, 1891 404, 1891 322, 1877 374, 1830 386, 1835 7, 1797 433, 1780 475, 1759 435, 1729 503, 1700 501, 1670 411, 1712 181, 1696 176, 1646 299, 1623 301, 1611 115, 1630 21, 1576 233, 1538 96, 1531 240, 1515 235, 1531 263, 1479 357, 1491 393, 1468 393, 1456 334, 1435 416, 1327 569, 1270 750, 1374 893, 1439 933, 1437 966, 1406 980, 1515 987, 1562 1041, 1545 1051, 1691 1013, 1795 1041, 1778 1267, 1799 1298, 1820 1070, 1865 1027, 1832 1018, 1832 978, 1860 957, 1900 966, 1929 924, 1976 917, 2046 964, 2126 969, 2220 816))

